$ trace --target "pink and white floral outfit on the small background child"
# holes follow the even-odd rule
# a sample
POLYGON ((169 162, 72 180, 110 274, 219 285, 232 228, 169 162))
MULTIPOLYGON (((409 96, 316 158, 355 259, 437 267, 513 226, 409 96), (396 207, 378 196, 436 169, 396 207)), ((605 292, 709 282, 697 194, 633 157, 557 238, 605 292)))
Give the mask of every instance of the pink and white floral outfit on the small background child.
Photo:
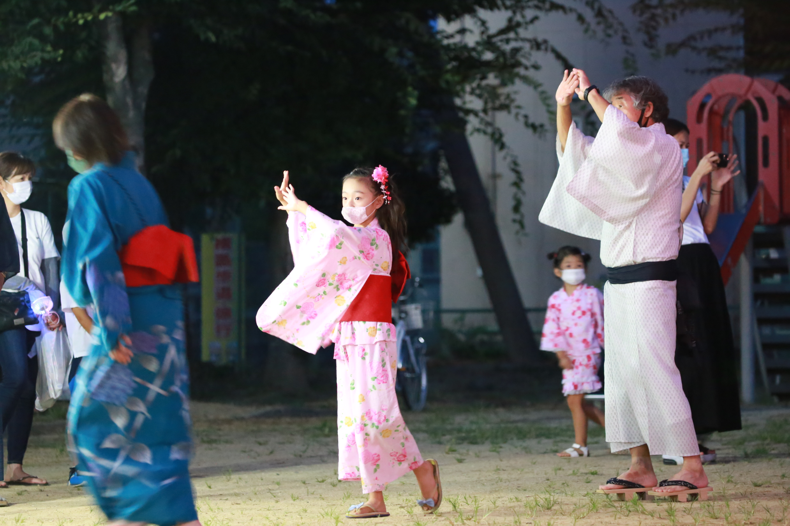
POLYGON ((540 349, 565 351, 573 369, 562 370, 562 394, 594 393, 598 378, 600 348, 604 345, 604 294, 582 283, 568 295, 565 287, 548 299, 540 349))

